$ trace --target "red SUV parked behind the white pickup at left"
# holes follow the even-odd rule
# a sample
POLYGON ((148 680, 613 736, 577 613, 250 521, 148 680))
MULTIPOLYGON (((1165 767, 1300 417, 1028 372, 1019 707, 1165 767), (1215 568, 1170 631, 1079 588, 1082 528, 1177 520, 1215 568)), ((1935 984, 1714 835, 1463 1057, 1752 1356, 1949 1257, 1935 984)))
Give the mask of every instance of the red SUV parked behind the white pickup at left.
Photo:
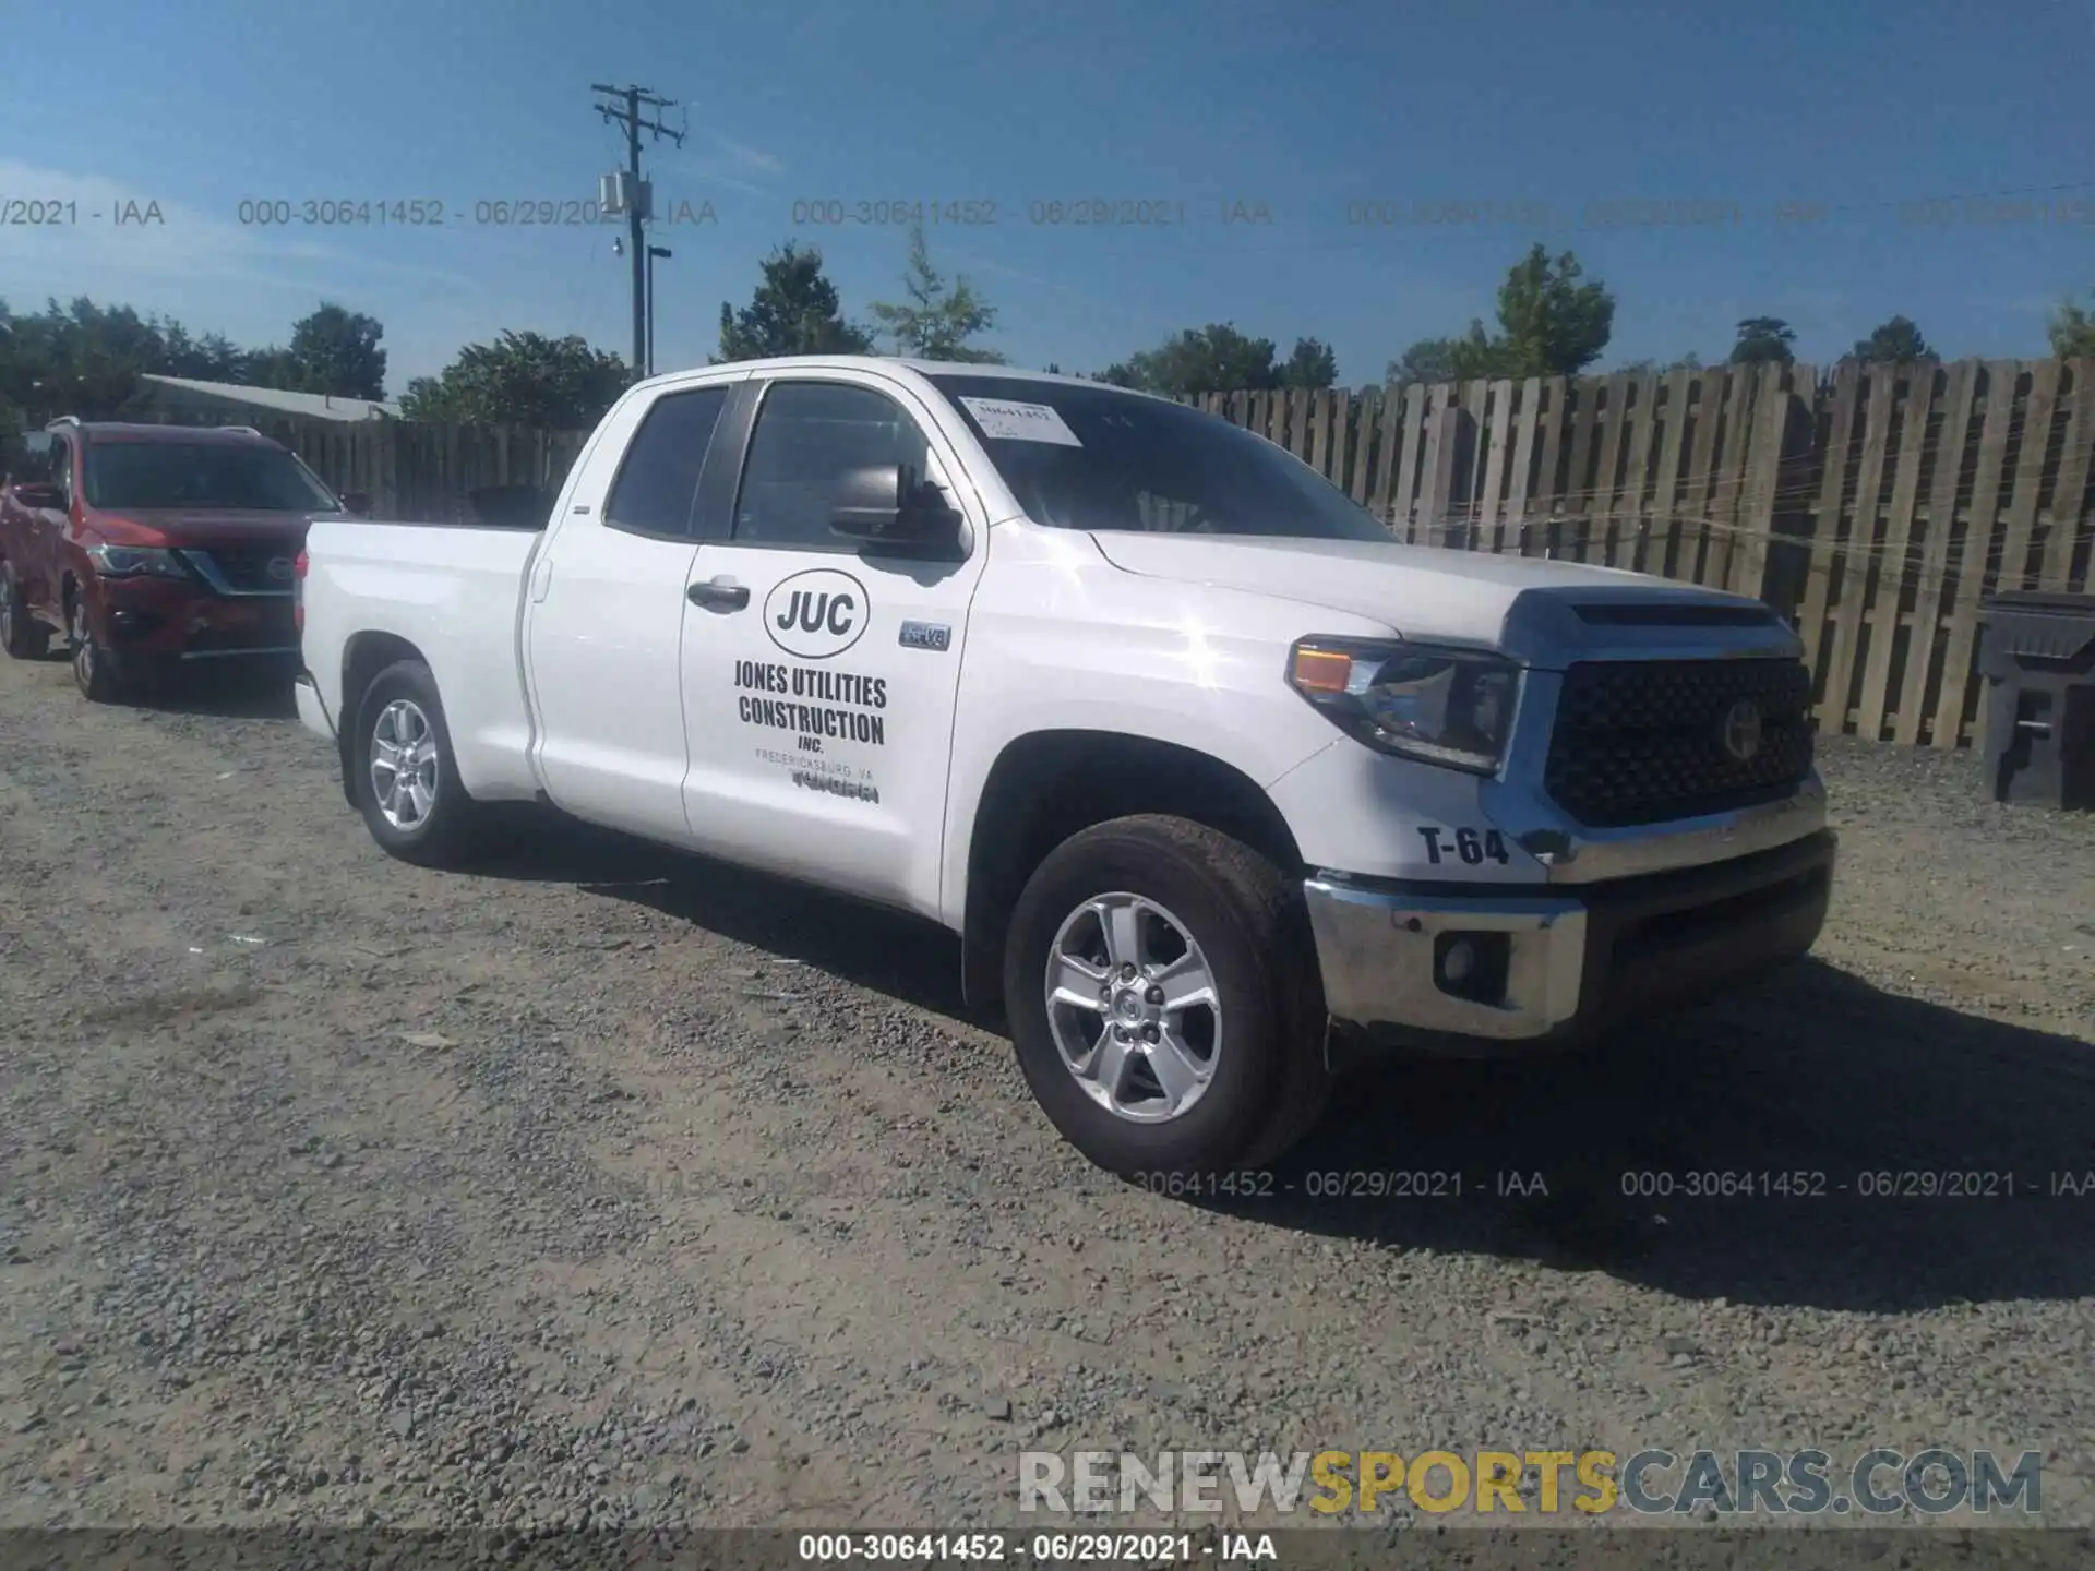
MULTIPOLYGON (((67 637, 107 704, 193 660, 295 666, 306 524, 348 513, 297 455, 247 427, 61 419, 0 488, 0 643, 67 637)), ((360 501, 360 499, 358 499, 360 501)))

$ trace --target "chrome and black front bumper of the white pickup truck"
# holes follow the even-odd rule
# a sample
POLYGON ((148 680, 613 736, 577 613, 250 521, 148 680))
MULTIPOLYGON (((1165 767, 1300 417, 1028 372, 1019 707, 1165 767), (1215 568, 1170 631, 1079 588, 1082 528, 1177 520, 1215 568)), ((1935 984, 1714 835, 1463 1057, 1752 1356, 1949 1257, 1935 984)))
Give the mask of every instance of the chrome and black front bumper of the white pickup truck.
POLYGON ((1320 873, 1303 892, 1332 1018, 1475 1056, 1584 1041, 1804 955, 1825 924, 1833 855, 1833 834, 1814 827, 1607 882, 1462 888, 1320 873), (1456 938, 1473 951, 1504 945, 1492 984, 1464 995, 1446 980, 1456 938))

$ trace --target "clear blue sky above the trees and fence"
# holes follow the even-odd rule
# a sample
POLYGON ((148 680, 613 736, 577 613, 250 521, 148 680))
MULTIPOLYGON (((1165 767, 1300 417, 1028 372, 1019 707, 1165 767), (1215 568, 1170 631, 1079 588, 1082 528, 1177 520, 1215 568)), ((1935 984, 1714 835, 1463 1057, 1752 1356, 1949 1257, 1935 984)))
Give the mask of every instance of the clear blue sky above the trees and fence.
POLYGON ((622 147, 591 82, 679 101, 656 201, 716 220, 656 235, 660 369, 704 360, 786 239, 823 249, 851 314, 899 297, 903 228, 796 226, 796 203, 993 203, 995 226, 932 226, 932 260, 1027 367, 1232 320, 1372 381, 1490 318, 1536 239, 1615 291, 1603 367, 1720 358, 1747 314, 1789 318, 1808 360, 1894 312, 1950 356, 2038 356, 2047 312, 2095 287, 2074 0, 101 0, 63 27, 31 50, 42 86, 0 94, 0 201, 80 222, 0 226, 0 297, 243 344, 339 300, 385 323, 392 392, 505 327, 629 350, 614 230, 476 222, 593 197, 622 147), (2007 191, 2020 212, 1904 205, 2007 191), (446 224, 264 228, 243 199, 434 199, 446 224), (124 201, 166 222, 113 226, 124 201), (1184 224, 1035 222, 1052 201, 1184 224), (1423 222, 1446 203, 1471 212, 1423 222))

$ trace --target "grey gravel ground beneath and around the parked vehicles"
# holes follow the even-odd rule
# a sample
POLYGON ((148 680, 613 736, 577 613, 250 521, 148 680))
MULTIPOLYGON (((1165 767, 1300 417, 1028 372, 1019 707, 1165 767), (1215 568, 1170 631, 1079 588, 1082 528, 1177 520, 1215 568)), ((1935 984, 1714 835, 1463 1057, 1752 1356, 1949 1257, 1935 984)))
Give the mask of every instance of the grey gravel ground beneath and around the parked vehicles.
POLYGON ((1810 1443, 2038 1447, 2095 1523, 2095 1192, 1852 1188, 2095 1171, 2095 817, 1825 754, 1818 959, 1605 1066, 1376 1070, 1192 1202, 1054 1137, 934 930, 561 825, 425 873, 281 695, 0 664, 0 1525, 955 1527, 1027 1445, 1810 1443), (1391 1169, 1469 1194, 1305 1192, 1391 1169), (1829 1192, 1624 1194, 1772 1169, 1829 1192))

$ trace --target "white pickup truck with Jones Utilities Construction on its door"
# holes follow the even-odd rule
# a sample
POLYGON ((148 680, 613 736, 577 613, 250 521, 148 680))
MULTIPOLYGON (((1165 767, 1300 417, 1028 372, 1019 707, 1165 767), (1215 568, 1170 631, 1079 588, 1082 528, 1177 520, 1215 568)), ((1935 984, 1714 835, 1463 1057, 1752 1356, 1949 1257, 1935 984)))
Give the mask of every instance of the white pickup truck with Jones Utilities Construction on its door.
POLYGON ((1385 1045, 1529 1054, 1810 949, 1810 672, 1760 601, 1399 547, 1068 377, 626 392, 538 530, 318 522, 300 714, 385 850, 488 804, 932 917, 1123 1171, 1299 1142, 1385 1045))

